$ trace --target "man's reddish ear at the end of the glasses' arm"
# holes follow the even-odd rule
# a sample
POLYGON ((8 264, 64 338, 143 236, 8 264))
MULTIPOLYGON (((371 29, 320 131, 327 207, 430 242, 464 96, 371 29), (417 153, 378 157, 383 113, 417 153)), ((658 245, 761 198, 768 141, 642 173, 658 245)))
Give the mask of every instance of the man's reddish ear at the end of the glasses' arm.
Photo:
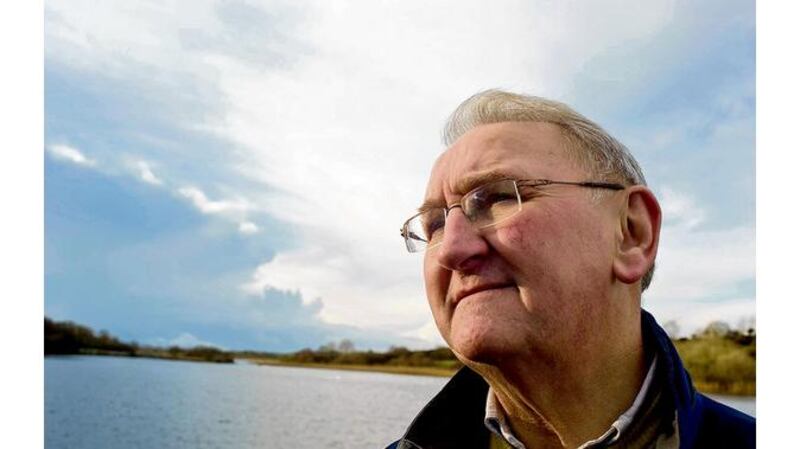
POLYGON ((661 206, 645 186, 629 187, 620 212, 620 240, 614 258, 614 275, 633 284, 647 273, 656 259, 661 233, 661 206))

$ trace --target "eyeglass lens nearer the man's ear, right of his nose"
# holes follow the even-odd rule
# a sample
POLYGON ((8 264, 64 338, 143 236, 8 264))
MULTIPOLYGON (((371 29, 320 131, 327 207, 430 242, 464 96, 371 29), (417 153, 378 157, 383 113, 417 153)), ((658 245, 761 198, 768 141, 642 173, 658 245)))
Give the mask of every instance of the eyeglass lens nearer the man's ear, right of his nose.
POLYGON ((485 228, 510 218, 522 209, 513 180, 492 182, 478 187, 464 197, 464 214, 478 228, 485 228))

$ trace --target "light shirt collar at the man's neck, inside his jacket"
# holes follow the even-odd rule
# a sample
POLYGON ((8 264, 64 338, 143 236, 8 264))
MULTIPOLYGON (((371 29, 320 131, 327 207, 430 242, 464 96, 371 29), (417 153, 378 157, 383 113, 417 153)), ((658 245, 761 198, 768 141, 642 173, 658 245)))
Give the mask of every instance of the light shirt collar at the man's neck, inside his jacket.
MULTIPOLYGON (((619 439, 620 435, 622 435, 622 432, 624 432, 625 429, 631 425, 634 416, 636 416, 636 412, 639 411, 644 403, 644 399, 647 396, 650 385, 653 383, 653 376, 656 371, 655 368, 656 357, 654 355, 653 361, 650 362, 650 368, 647 370, 647 375, 642 382, 642 386, 639 388, 639 393, 633 400, 633 404, 627 410, 625 410, 625 412, 623 412, 622 415, 616 419, 616 421, 611 423, 611 427, 609 427, 609 429, 603 433, 603 435, 583 443, 578 447, 578 449, 588 449, 599 443, 611 444, 619 439)), ((488 428, 491 432, 501 436, 515 449, 526 449, 525 444, 523 444, 512 432, 511 426, 508 424, 506 419, 505 412, 503 412, 503 408, 497 400, 497 396, 495 395, 491 386, 489 387, 489 392, 486 397, 486 415, 483 423, 486 428, 488 428)))

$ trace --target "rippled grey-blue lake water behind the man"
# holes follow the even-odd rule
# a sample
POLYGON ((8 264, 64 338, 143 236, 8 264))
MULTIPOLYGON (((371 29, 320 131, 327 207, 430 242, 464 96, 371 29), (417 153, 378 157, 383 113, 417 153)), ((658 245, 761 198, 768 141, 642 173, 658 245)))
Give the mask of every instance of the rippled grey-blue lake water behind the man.
MULTIPOLYGON (((383 448, 443 377, 127 357, 45 358, 45 447, 383 448)), ((753 398, 717 397, 755 414, 753 398)))

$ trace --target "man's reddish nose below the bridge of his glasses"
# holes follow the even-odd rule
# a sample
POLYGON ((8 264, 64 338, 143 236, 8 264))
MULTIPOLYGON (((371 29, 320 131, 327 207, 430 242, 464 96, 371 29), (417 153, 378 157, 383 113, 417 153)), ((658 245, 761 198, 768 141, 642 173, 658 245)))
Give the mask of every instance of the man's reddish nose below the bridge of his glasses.
POLYGON ((480 266, 489 251, 489 244, 458 207, 448 213, 442 242, 434 251, 440 266, 468 273, 480 266))

